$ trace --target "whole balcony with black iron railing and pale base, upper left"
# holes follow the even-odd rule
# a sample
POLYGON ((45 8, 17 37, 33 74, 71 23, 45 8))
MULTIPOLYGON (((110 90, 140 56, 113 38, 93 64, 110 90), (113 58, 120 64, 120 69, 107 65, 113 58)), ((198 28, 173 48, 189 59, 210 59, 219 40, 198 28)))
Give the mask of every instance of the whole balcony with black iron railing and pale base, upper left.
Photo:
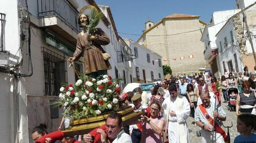
POLYGON ((39 26, 50 28, 75 45, 81 31, 78 10, 68 0, 37 0, 37 4, 39 26))

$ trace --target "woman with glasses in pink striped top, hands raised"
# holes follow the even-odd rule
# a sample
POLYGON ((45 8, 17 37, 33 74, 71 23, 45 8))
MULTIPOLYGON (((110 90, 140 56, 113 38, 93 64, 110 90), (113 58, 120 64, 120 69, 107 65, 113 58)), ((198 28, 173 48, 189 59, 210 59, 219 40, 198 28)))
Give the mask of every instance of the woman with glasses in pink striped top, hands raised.
POLYGON ((162 105, 154 100, 150 104, 150 118, 141 116, 142 138, 141 143, 162 143, 161 133, 163 131, 164 119, 159 117, 159 111, 162 105))

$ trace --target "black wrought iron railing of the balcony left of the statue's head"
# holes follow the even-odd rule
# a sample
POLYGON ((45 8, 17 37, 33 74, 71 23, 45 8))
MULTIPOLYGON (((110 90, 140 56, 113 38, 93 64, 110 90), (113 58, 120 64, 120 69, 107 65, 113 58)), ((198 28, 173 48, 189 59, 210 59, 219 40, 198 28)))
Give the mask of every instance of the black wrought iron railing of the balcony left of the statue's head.
POLYGON ((37 0, 38 17, 57 16, 79 33, 78 10, 68 0, 37 0))

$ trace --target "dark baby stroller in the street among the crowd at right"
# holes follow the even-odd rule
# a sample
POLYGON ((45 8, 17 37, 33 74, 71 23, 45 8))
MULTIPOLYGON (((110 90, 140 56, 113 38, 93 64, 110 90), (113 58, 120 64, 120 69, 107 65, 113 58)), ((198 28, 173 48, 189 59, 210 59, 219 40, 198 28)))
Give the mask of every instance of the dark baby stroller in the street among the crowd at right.
POLYGON ((228 90, 228 110, 229 111, 236 111, 236 103, 237 103, 237 94, 238 94, 238 89, 237 88, 229 88, 228 90), (231 95, 231 93, 234 92, 235 94, 231 95))

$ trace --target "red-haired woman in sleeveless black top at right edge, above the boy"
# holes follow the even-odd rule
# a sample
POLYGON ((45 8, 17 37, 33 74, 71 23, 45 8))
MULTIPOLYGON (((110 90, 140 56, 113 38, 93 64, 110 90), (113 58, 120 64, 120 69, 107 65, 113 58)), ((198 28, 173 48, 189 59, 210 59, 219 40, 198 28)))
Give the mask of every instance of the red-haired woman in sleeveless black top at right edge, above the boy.
POLYGON ((251 84, 248 81, 242 83, 242 92, 237 95, 236 113, 252 113, 252 109, 256 104, 256 94, 250 91, 251 84))

